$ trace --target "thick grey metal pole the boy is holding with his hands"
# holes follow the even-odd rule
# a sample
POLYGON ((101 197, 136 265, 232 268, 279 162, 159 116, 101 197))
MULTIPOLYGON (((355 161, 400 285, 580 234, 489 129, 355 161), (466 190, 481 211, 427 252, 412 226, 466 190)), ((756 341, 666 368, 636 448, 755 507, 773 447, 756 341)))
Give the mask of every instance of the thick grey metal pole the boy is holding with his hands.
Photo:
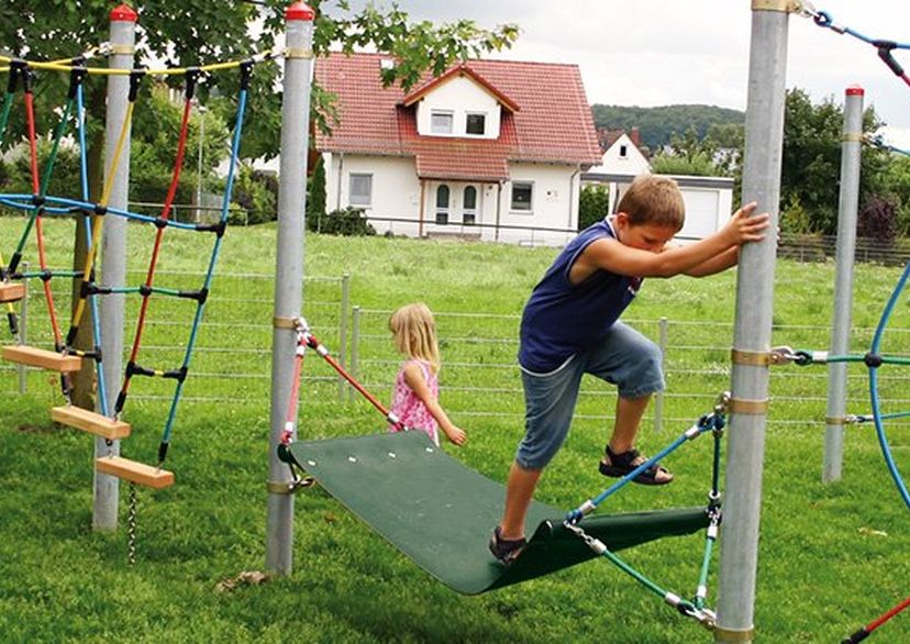
POLYGON ((753 0, 743 203, 770 214, 740 249, 717 642, 752 642, 786 102, 788 0, 753 0), (737 357, 740 356, 740 357, 737 357))

